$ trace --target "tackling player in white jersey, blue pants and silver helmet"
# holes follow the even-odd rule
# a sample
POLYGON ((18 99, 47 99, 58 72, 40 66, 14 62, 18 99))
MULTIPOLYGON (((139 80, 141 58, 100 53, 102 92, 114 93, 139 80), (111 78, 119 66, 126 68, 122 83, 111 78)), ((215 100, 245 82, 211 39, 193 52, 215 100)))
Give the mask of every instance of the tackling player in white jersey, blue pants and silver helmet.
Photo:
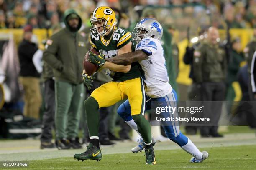
MULTIPOLYGON (((161 24, 152 19, 144 18, 134 28, 132 32, 133 40, 136 41, 135 52, 128 52, 106 60, 97 55, 90 55, 90 62, 97 65, 104 65, 105 62, 113 62, 119 65, 129 65, 138 61, 145 73, 146 95, 148 102, 146 109, 151 109, 150 102, 161 102, 161 107, 176 107, 177 94, 169 84, 169 77, 166 69, 164 58, 164 50, 161 46, 161 37, 163 30, 161 24)), ((159 104, 160 105, 160 104, 159 104)), ((118 107, 118 114, 128 123, 134 130, 138 132, 136 123, 131 116, 131 107, 129 101, 126 100, 118 107)), ((164 113, 166 116, 176 117, 177 112, 164 113)), ((208 158, 206 151, 200 152, 192 141, 179 131, 178 122, 169 122, 163 126, 167 138, 177 143, 183 150, 191 154, 193 157, 190 162, 198 163, 208 158)), ((143 140, 138 140, 138 146, 132 149, 134 152, 143 150, 143 140)))

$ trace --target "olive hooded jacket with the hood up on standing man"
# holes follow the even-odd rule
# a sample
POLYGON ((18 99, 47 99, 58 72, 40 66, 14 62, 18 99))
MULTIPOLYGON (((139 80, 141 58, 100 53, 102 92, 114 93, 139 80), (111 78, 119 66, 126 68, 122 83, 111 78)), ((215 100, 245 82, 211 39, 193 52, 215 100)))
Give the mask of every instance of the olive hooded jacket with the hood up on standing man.
POLYGON ((83 59, 87 48, 84 37, 77 31, 70 30, 67 22, 70 14, 78 16, 77 31, 81 28, 82 20, 75 10, 66 10, 64 13, 66 28, 61 29, 47 40, 43 60, 53 68, 56 80, 77 85, 82 83, 83 59))

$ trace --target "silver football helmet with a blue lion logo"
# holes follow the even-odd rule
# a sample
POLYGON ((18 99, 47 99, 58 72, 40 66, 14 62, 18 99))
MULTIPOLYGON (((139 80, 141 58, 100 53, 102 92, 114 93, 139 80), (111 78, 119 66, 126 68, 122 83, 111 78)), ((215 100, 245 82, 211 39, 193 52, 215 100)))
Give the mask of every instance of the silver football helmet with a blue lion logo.
POLYGON ((157 20, 154 20, 153 18, 144 18, 136 24, 132 32, 133 40, 139 42, 145 37, 161 40, 163 35, 162 30, 163 28, 157 20))

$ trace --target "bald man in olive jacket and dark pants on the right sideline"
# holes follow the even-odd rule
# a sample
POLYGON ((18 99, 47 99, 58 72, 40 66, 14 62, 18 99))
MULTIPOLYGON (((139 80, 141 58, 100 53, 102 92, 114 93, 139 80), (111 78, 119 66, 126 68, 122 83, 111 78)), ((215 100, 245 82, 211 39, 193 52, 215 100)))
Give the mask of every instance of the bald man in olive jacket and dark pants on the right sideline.
POLYGON ((218 133, 222 103, 225 100, 226 55, 220 47, 217 28, 210 27, 207 40, 201 43, 194 52, 193 71, 195 82, 201 85, 204 114, 209 117, 210 126, 202 126, 202 137, 223 137, 218 133), (213 101, 213 102, 210 102, 213 101))

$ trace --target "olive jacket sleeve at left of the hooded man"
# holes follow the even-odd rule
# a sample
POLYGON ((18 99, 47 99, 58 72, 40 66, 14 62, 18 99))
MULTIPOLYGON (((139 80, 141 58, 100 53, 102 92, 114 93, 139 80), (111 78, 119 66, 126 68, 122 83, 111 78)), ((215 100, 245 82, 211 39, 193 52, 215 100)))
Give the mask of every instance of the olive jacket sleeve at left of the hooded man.
POLYGON ((46 42, 46 50, 43 54, 43 60, 50 65, 52 68, 62 71, 63 64, 57 59, 56 55, 59 49, 59 44, 57 37, 51 37, 51 39, 46 42))

